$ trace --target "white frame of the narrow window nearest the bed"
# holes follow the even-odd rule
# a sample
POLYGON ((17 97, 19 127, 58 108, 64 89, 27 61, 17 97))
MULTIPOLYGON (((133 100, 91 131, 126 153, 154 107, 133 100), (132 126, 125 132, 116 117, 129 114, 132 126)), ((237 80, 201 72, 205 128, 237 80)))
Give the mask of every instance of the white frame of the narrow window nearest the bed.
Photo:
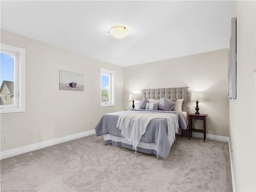
POLYGON ((100 68, 100 107, 115 106, 115 71, 100 68), (102 74, 110 76, 110 102, 101 102, 102 74))

